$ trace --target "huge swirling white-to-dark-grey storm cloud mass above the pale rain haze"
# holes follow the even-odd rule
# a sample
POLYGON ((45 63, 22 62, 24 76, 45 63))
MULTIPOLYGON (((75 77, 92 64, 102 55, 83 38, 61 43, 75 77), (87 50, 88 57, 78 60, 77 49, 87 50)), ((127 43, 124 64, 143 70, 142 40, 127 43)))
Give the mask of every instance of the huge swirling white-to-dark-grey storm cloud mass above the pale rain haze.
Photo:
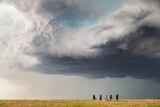
POLYGON ((7 42, 0 39, 5 68, 160 80, 158 0, 132 5, 125 0, 1 0, 2 4, 13 6, 26 26, 7 36, 7 42))

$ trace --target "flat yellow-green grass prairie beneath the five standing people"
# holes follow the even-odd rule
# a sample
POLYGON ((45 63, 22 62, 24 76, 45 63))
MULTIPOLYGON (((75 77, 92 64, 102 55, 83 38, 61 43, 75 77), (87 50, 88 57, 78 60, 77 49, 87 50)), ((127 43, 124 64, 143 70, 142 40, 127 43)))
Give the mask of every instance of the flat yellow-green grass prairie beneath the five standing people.
POLYGON ((160 100, 0 100, 0 107, 160 107, 160 100))

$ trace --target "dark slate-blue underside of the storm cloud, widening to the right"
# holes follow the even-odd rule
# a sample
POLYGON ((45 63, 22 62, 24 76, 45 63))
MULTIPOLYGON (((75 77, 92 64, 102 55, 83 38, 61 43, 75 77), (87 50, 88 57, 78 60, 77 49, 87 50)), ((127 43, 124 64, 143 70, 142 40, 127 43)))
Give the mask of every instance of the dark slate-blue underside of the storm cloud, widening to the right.
POLYGON ((159 51, 159 31, 157 28, 143 26, 131 34, 134 36, 129 35, 121 40, 112 40, 106 45, 95 47, 102 50, 99 57, 74 59, 48 56, 45 61, 42 61, 45 63, 35 68, 47 74, 81 75, 88 78, 131 76, 138 79, 154 79, 159 82, 160 60, 147 57, 150 56, 148 54, 152 55, 159 51), (148 42, 152 42, 152 45, 157 47, 153 49, 148 42), (120 47, 124 44, 125 48, 120 47), (141 47, 141 45, 145 46, 141 47))

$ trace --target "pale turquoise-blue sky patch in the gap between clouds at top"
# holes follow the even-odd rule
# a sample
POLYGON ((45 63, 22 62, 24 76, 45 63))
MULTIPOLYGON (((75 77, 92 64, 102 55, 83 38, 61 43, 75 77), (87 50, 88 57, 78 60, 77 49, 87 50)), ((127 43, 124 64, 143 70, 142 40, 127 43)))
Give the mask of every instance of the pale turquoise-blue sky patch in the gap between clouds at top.
POLYGON ((95 2, 91 3, 92 8, 88 9, 92 13, 91 15, 86 15, 85 12, 84 12, 85 14, 83 14, 83 12, 81 12, 81 14, 76 13, 73 10, 73 12, 69 12, 68 14, 65 13, 55 18, 50 22, 50 24, 52 24, 52 26, 64 24, 70 27, 87 27, 96 23, 102 17, 107 16, 109 13, 117 10, 121 6, 121 2, 118 0, 86 0, 86 1, 82 0, 82 1, 85 4, 85 6, 90 6, 88 1, 95 2))

